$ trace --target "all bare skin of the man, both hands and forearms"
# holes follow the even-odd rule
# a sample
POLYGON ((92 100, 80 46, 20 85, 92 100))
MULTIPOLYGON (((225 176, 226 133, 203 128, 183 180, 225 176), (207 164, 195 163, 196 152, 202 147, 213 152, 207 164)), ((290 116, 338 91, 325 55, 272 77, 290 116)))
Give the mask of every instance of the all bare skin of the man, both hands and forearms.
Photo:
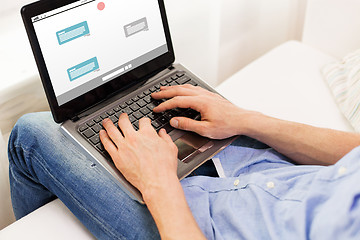
MULTIPOLYGON (((213 139, 246 135, 299 164, 334 164, 360 145, 358 134, 271 118, 238 108, 221 96, 192 85, 162 87, 152 97, 168 99, 154 112, 177 107, 200 112, 201 121, 171 119, 175 128, 213 139)), ((110 120, 104 120, 103 125, 106 131, 100 132, 100 139, 105 149, 126 179, 142 193, 161 237, 205 239, 186 203, 176 175, 177 148, 165 130, 156 133, 150 120, 144 118, 135 131, 126 114, 119 118, 123 135, 110 120)))

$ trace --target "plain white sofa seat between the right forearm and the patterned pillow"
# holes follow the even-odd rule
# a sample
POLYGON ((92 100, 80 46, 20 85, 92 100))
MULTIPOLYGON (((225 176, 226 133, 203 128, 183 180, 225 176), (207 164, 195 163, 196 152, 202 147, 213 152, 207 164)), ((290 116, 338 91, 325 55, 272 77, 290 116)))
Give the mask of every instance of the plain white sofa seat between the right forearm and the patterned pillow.
POLYGON ((217 90, 245 109, 317 127, 353 131, 320 71, 334 60, 290 41, 236 73, 217 90))

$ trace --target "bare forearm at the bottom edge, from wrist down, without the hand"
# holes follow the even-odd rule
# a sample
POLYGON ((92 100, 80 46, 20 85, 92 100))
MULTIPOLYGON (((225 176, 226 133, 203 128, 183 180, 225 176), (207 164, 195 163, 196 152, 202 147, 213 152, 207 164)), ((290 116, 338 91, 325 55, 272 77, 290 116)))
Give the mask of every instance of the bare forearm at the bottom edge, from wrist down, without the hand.
POLYGON ((205 239, 198 227, 179 180, 169 181, 163 187, 144 195, 162 239, 205 239))

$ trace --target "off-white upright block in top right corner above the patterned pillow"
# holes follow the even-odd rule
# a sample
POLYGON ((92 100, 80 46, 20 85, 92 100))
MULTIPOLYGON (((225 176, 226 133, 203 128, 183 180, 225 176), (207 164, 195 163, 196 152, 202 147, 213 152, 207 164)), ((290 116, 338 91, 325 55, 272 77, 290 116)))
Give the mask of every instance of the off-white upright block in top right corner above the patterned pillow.
POLYGON ((359 0, 309 1, 303 42, 334 57, 343 58, 360 48, 359 12, 359 0))

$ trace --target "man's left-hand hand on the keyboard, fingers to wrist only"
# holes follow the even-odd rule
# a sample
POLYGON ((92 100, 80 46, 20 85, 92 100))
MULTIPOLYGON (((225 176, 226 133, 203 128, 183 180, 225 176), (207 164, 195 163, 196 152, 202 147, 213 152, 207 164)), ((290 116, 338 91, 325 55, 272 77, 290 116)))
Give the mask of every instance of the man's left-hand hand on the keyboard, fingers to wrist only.
POLYGON ((103 126, 106 131, 100 132, 100 139, 106 151, 124 177, 143 195, 163 187, 169 179, 178 181, 177 147, 164 129, 158 134, 150 119, 143 118, 139 131, 135 131, 127 114, 119 118, 123 134, 109 119, 103 121, 103 126))

